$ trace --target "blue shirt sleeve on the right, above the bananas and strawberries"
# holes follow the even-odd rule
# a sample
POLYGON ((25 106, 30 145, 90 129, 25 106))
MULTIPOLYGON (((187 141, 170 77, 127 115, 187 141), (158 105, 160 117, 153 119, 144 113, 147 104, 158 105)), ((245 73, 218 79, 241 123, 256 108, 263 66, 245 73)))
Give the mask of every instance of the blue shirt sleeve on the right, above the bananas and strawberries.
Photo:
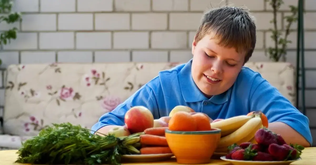
POLYGON ((274 86, 260 75, 255 77, 250 92, 250 110, 261 110, 268 118, 269 123, 283 122, 300 133, 310 144, 313 143, 309 129, 309 120, 292 103, 284 97, 274 86))

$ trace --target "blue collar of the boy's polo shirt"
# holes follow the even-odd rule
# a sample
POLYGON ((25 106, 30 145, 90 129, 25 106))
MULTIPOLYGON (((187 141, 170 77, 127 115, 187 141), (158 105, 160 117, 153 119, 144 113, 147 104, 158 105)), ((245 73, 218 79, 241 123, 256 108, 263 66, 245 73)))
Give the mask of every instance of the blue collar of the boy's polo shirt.
POLYGON ((203 100, 210 100, 212 103, 215 104, 223 104, 228 101, 230 90, 211 97, 208 99, 204 96, 204 94, 198 89, 197 85, 195 84, 192 74, 191 74, 191 66, 192 60, 185 64, 185 66, 181 69, 178 75, 179 84, 182 92, 182 96, 185 102, 199 102, 203 100))

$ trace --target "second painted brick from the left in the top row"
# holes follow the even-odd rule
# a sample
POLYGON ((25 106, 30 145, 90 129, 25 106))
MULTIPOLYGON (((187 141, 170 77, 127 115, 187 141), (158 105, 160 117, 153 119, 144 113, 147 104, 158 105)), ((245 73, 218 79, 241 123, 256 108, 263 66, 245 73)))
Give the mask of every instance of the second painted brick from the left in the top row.
POLYGON ((40 0, 41 12, 75 12, 76 0, 40 0))

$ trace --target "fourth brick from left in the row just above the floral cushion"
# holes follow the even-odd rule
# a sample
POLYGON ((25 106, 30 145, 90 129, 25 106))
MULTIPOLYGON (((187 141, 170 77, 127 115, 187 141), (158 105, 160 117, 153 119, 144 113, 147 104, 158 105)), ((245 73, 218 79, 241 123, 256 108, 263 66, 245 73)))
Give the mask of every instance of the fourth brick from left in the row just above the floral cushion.
POLYGON ((96 51, 95 62, 130 62, 130 51, 96 51))

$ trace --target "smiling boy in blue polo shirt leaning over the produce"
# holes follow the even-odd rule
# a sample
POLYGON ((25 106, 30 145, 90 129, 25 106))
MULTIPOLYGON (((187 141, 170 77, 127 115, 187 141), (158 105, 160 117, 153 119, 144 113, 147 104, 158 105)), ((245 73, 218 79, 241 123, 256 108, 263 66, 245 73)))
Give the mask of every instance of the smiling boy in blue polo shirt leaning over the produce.
POLYGON ((260 74, 243 67, 255 44, 256 26, 248 11, 229 6, 210 10, 192 43, 193 58, 161 71, 112 112, 102 115, 92 130, 107 133, 123 126, 126 111, 139 105, 147 107, 155 119, 168 116, 177 105, 211 119, 261 110, 269 119, 269 129, 288 144, 311 146, 308 118, 260 74))

